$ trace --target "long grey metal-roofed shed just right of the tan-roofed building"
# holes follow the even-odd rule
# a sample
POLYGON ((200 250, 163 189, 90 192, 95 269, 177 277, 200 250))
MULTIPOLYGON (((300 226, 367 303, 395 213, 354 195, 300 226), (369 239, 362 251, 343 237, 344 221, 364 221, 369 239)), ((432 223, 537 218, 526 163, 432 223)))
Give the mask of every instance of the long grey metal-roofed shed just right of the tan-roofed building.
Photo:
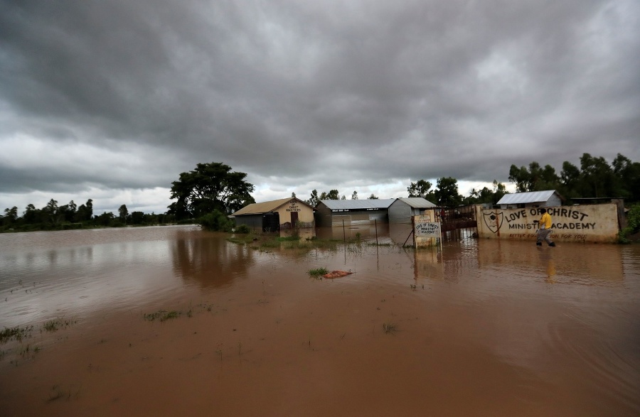
POLYGON ((320 200, 316 221, 321 227, 342 224, 387 223, 388 209, 395 198, 371 200, 320 200))

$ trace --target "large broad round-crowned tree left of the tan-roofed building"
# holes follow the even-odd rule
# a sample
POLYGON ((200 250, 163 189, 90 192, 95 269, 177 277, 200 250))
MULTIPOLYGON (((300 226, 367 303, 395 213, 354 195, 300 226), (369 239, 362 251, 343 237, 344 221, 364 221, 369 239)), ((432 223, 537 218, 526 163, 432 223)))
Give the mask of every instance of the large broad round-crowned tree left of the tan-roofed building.
POLYGON ((232 172, 224 163, 198 163, 195 170, 181 173, 171 183, 171 200, 177 200, 169 210, 178 220, 201 217, 213 210, 235 212, 252 202, 255 187, 247 183, 246 173, 232 172))

